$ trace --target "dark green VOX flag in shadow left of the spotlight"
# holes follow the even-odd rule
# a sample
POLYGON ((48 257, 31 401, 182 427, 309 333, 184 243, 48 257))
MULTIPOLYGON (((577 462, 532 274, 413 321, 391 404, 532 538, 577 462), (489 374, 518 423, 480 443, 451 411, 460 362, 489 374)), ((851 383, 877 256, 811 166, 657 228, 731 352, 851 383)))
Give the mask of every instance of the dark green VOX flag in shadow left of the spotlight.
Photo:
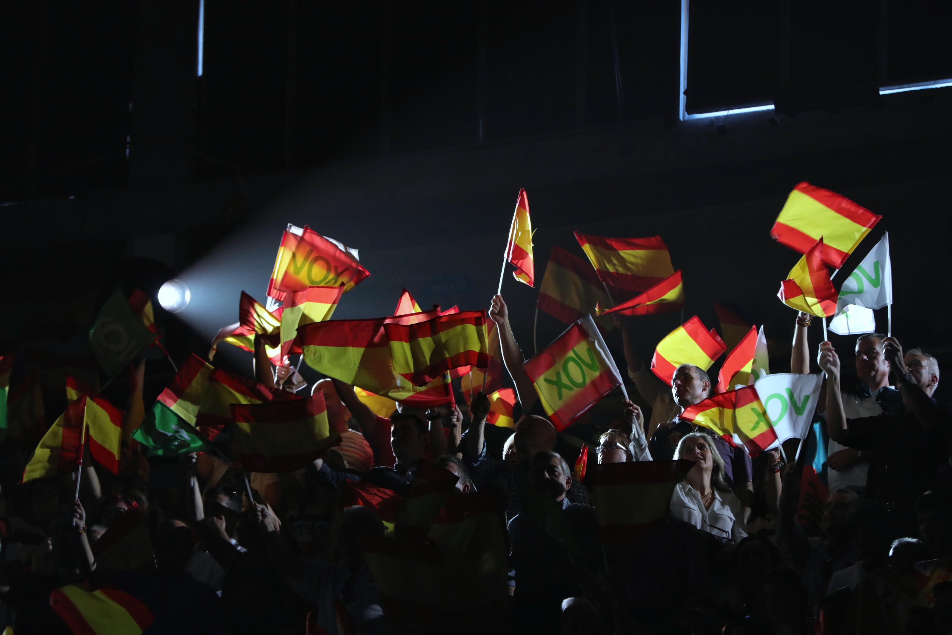
POLYGON ((89 348, 106 376, 112 377, 156 337, 158 333, 142 324, 129 307, 126 296, 116 289, 89 330, 89 348))

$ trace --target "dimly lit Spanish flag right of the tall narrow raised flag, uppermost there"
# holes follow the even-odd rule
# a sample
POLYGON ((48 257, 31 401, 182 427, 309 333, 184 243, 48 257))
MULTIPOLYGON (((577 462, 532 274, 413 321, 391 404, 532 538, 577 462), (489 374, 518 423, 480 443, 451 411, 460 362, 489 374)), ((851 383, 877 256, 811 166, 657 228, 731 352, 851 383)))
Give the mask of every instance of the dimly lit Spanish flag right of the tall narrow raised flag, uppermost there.
POLYGON ((632 291, 646 291, 674 273, 661 236, 605 238, 576 231, 575 239, 585 249, 599 280, 619 289, 617 294, 612 292, 615 302, 624 302, 632 291))

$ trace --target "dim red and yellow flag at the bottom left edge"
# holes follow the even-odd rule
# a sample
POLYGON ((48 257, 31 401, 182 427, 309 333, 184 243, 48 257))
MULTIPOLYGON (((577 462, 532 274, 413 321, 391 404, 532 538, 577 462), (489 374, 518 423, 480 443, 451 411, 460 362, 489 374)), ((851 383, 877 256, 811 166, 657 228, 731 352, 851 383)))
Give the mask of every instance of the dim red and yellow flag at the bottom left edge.
POLYGON ((50 607, 77 635, 141 635, 154 621, 149 607, 112 585, 67 585, 50 593, 50 607))

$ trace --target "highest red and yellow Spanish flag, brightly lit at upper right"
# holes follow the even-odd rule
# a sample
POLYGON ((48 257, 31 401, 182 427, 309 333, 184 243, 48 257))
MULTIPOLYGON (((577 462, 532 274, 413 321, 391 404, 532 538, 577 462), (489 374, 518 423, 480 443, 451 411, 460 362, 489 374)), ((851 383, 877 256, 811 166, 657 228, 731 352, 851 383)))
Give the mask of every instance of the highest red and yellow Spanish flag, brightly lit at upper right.
POLYGON ((881 218, 841 194, 803 181, 790 192, 770 236, 801 253, 823 237, 823 262, 841 268, 881 218))

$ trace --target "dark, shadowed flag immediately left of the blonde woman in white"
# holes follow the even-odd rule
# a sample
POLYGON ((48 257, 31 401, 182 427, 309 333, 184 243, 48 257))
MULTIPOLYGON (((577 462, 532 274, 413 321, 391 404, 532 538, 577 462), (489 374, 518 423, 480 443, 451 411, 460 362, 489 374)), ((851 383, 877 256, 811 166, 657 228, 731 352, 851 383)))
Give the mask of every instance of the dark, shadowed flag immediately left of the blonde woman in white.
POLYGON ((632 543, 664 523, 674 487, 690 461, 642 461, 592 466, 588 490, 607 544, 632 543))

